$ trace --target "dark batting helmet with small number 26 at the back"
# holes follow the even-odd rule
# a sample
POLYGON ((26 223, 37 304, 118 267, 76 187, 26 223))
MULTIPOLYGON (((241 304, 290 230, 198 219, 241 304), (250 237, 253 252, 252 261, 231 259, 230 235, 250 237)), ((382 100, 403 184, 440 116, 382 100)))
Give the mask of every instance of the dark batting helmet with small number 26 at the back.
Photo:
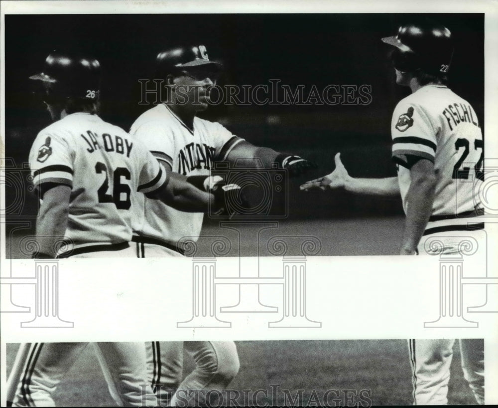
POLYGON ((53 52, 45 59, 43 72, 29 79, 42 81, 49 96, 98 99, 100 63, 95 58, 53 52))

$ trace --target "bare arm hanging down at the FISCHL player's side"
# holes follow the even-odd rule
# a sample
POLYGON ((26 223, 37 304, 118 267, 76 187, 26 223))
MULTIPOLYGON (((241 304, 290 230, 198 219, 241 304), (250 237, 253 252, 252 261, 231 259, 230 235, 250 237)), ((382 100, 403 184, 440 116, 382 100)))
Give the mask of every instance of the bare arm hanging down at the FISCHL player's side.
POLYGON ((406 201, 406 221, 401 255, 412 255, 424 233, 434 202, 435 181, 432 178, 412 180, 406 201))

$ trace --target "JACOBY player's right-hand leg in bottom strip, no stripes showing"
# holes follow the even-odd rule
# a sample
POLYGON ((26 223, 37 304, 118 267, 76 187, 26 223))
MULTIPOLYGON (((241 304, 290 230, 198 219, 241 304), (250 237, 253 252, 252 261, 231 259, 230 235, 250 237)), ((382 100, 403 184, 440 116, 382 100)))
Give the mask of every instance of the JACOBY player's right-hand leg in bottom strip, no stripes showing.
MULTIPOLYGON (((114 385, 125 407, 156 407, 156 398, 147 382, 143 342, 97 343, 104 375, 114 385)), ((114 389, 110 386, 111 394, 114 389)))

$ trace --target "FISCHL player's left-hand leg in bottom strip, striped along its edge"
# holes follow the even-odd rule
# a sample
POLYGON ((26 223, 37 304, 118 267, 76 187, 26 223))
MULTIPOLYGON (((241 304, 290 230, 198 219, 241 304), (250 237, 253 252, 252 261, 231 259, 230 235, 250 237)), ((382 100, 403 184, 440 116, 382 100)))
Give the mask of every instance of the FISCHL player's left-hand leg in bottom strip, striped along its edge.
POLYGON ((446 405, 455 339, 408 340, 415 405, 446 405))

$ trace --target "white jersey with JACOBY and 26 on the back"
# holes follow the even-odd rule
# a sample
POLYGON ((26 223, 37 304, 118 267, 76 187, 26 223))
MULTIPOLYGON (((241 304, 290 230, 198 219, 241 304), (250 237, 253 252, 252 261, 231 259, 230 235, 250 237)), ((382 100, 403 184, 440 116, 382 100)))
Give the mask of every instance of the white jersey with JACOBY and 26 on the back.
POLYGON ((73 254, 129 242, 130 207, 142 196, 135 192, 153 192, 166 181, 140 141, 83 112, 43 129, 31 148, 29 166, 36 188, 44 183, 71 187, 65 235, 74 242, 73 254))

